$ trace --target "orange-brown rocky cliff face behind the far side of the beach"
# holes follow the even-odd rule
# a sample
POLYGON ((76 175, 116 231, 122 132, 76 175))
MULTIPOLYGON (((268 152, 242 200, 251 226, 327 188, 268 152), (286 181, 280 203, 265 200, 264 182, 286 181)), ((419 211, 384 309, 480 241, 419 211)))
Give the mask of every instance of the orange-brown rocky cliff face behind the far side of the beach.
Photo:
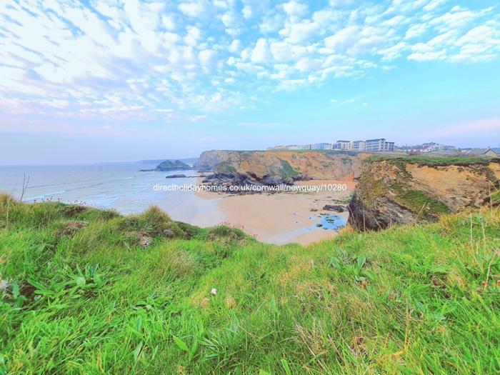
POLYGON ((200 161, 209 166, 219 160, 214 174, 205 180, 212 184, 279 185, 311 179, 352 181, 359 178, 366 156, 323 151, 231 151, 206 157, 201 154, 200 161))

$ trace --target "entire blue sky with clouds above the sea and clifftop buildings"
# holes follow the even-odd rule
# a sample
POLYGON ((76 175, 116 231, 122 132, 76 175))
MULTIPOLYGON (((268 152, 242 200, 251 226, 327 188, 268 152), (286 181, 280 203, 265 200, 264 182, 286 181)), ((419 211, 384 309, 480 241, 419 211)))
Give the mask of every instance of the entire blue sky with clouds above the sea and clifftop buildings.
POLYGON ((500 146, 498 1, 0 1, 0 164, 500 146))

